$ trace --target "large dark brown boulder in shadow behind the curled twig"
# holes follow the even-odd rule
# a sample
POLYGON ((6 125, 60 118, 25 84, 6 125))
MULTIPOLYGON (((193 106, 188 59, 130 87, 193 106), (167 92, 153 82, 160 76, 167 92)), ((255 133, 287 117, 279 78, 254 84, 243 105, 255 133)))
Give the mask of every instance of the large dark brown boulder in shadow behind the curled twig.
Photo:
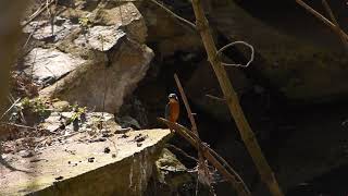
POLYGON ((211 22, 229 40, 251 44, 258 52, 253 69, 288 99, 316 102, 347 95, 348 59, 339 38, 295 1, 271 2, 263 12, 254 9, 263 2, 215 3, 211 22))

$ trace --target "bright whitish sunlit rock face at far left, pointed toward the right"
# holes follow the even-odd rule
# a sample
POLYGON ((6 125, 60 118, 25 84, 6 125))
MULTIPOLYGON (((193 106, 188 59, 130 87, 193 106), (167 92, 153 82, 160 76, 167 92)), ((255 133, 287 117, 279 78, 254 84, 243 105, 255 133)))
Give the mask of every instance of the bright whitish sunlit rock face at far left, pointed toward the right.
POLYGON ((44 85, 53 83, 84 62, 79 57, 45 48, 35 48, 24 58, 26 74, 44 85))

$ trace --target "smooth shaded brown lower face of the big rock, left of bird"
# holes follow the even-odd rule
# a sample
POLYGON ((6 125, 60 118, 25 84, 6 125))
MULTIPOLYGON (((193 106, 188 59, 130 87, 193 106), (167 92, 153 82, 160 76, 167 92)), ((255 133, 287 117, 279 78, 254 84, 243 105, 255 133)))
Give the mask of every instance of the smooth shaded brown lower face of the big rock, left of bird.
POLYGON ((129 40, 120 45, 109 63, 85 63, 57 84, 42 89, 41 96, 51 97, 55 91, 54 95, 62 100, 96 107, 97 111, 116 112, 123 98, 130 94, 145 76, 153 58, 152 50, 145 45, 129 40))

